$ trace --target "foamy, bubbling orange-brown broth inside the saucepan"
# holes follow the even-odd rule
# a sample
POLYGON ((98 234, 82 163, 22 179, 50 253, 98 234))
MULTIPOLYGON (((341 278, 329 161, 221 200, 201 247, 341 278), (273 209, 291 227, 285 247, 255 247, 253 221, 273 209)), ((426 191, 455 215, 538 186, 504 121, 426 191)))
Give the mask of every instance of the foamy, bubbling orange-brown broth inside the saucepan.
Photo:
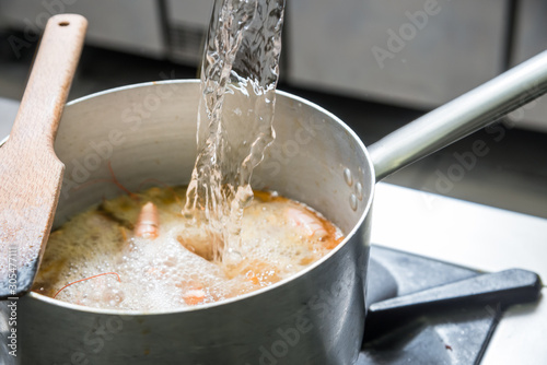
POLYGON ((276 283, 342 239, 336 226, 306 205, 255 191, 242 217, 244 258, 221 262, 202 225, 181 213, 185 196, 181 187, 151 188, 75 215, 51 233, 33 291, 97 308, 172 310, 276 283), (158 208, 159 219, 156 236, 148 238, 136 234, 147 202, 158 208), (106 272, 119 281, 116 274, 81 281, 106 272))

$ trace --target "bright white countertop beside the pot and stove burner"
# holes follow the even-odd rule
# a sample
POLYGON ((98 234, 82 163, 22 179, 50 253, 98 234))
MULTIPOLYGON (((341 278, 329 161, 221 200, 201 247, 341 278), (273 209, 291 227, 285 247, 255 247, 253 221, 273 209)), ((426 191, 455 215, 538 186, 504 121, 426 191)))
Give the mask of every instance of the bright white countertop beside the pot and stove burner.
MULTIPOLYGON (((19 103, 0 98, 0 140, 19 103)), ((547 220, 380 182, 372 242, 465 267, 521 268, 547 280, 547 220)), ((484 365, 547 364, 547 289, 532 305, 511 307, 493 333, 484 365)))

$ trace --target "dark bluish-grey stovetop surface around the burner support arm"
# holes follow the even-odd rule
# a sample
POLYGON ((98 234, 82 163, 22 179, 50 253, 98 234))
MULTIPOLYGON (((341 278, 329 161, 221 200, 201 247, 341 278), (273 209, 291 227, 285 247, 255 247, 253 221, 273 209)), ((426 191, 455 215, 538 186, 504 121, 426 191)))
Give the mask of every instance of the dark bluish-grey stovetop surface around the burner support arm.
MULTIPOLYGON (((478 274, 467 268, 372 245, 366 303, 478 274)), ((364 343, 356 365, 477 364, 500 319, 501 310, 489 305, 433 311, 364 343)))

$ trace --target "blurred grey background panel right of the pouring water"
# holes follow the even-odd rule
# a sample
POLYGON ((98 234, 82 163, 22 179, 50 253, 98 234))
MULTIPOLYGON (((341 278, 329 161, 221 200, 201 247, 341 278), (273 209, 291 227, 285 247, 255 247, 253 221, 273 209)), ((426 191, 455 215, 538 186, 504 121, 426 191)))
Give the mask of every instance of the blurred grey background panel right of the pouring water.
POLYGON ((430 108, 503 71, 507 0, 287 5, 286 78, 296 86, 430 108))

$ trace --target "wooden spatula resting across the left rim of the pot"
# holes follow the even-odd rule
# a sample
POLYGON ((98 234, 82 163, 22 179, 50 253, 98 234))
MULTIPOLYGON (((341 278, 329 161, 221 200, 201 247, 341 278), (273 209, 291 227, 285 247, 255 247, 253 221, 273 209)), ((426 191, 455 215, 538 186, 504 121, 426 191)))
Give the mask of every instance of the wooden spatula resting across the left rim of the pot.
POLYGON ((75 14, 48 21, 15 123, 0 148, 0 298, 31 290, 44 254, 65 170, 54 141, 86 27, 75 14))

